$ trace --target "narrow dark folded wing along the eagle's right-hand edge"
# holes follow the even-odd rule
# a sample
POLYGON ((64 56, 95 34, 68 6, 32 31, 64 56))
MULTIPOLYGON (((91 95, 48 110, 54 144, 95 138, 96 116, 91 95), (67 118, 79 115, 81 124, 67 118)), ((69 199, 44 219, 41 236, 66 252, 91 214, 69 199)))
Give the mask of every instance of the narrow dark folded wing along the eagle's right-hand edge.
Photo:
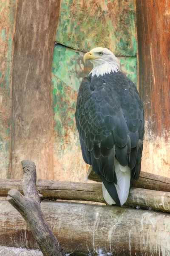
POLYGON ((142 99, 135 84, 123 75, 122 111, 127 124, 128 140, 130 137, 131 151, 128 151, 128 166, 132 177, 139 178, 141 170, 143 138, 144 138, 144 108, 142 99))

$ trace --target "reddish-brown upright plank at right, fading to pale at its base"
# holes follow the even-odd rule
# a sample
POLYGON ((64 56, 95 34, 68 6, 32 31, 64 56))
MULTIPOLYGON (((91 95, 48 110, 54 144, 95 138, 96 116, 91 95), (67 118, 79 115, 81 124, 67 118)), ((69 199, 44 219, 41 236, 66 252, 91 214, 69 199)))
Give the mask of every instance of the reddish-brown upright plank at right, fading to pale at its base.
POLYGON ((170 177, 170 1, 136 0, 139 94, 144 102, 142 170, 170 177))

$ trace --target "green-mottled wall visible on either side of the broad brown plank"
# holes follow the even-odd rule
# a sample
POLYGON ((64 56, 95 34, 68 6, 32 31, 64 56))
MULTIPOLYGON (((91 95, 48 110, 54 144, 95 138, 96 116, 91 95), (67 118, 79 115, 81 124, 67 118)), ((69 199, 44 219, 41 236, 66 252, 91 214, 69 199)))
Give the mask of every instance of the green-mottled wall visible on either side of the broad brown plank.
MULTIPOLYGON (((0 177, 9 177, 11 152, 11 55, 15 0, 0 0, 0 177)), ((77 91, 92 66, 83 55, 97 46, 118 56, 122 71, 136 83, 133 0, 62 0, 52 65, 54 177, 81 181, 85 165, 75 124, 77 91), (62 44, 62 45, 61 45, 62 44), (120 57, 121 56, 121 57, 120 57)))

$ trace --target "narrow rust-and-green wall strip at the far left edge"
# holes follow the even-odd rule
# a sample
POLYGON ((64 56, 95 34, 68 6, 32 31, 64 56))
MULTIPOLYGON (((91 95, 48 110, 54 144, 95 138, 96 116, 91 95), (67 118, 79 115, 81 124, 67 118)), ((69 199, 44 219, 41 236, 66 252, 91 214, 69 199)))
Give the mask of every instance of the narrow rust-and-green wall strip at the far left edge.
POLYGON ((9 177, 11 154, 11 52, 15 1, 0 0, 0 178, 9 177))

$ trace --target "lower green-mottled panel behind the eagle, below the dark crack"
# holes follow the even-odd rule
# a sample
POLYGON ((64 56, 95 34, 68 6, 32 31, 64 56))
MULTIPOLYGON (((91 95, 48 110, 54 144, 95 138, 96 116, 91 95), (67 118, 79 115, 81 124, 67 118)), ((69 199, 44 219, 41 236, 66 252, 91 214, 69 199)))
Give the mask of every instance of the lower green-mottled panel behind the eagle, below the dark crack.
MULTIPOLYGON (((92 65, 84 66, 83 52, 57 44, 52 64, 54 109, 54 177, 82 181, 88 165, 82 159, 75 108, 80 82, 92 65)), ((136 57, 119 57, 122 71, 136 82, 136 57)))

